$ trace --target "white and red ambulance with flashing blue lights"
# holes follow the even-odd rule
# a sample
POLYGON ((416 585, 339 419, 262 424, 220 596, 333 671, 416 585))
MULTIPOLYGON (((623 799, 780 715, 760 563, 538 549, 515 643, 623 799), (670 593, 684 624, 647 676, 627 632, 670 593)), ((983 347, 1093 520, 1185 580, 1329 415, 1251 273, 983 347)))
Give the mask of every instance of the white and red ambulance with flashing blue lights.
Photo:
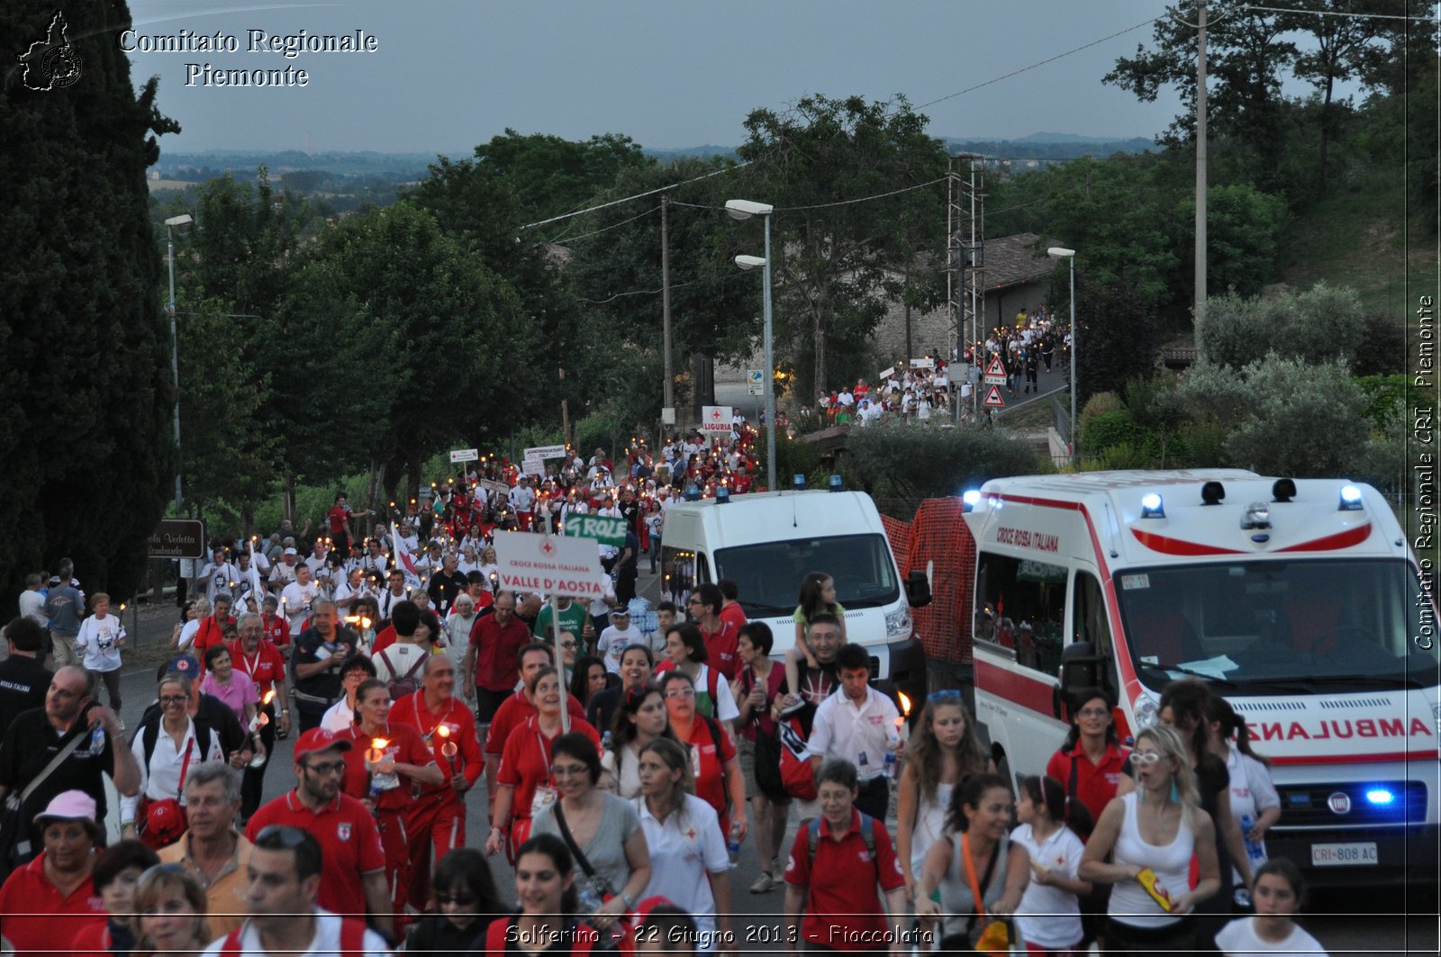
POLYGON ((1007 774, 1043 773, 1072 690, 1110 689, 1125 741, 1200 677, 1271 760, 1271 856, 1324 885, 1437 881, 1435 569, 1375 489, 1099 471, 963 500, 977 722, 1007 774))

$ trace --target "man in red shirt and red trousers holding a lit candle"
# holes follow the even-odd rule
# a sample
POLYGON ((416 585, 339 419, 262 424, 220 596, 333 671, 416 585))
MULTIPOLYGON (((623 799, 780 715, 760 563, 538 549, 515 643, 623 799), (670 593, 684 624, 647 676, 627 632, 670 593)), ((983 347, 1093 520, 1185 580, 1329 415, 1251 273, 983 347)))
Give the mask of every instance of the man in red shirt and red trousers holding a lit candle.
POLYGON ((405 817, 411 843, 409 904, 425 909, 435 863, 465 846, 465 791, 486 767, 476 736, 476 718, 465 702, 455 700, 455 663, 445 654, 425 662, 421 687, 391 705, 391 722, 415 728, 435 754, 445 775, 440 787, 422 785, 405 817))

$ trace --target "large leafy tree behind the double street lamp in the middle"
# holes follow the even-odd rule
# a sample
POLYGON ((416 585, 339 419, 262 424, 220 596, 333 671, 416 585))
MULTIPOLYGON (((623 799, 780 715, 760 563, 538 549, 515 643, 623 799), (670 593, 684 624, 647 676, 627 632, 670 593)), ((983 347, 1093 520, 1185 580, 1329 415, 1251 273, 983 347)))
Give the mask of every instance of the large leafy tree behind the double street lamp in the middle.
MULTIPOLYGON (((810 366, 803 391, 827 389, 833 379, 867 370, 867 339, 893 284, 888 270, 899 272, 911 252, 891 241, 893 223, 902 208, 914 215, 919 197, 849 200, 944 177, 945 148, 925 125, 905 97, 866 102, 816 95, 785 114, 757 110, 746 117, 749 135, 738 153, 751 163, 752 196, 777 208, 771 223, 777 326, 785 323, 785 353, 797 368, 810 366)), ((942 186, 929 189, 938 226, 945 219, 942 186)))

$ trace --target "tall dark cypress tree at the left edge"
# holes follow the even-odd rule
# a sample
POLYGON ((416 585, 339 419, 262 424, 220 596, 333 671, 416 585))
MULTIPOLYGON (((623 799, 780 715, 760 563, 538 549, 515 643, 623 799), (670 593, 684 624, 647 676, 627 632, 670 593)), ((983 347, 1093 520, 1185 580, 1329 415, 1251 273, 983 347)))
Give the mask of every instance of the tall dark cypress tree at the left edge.
POLYGON ((171 474, 146 167, 154 135, 179 127, 156 107, 156 79, 138 95, 131 85, 114 42, 130 25, 124 3, 0 10, 12 49, 49 36, 42 56, 68 42, 75 56, 62 59, 79 65, 55 89, 40 62, 20 65, 0 94, 0 579, 71 555, 86 589, 117 598, 140 581, 171 474))

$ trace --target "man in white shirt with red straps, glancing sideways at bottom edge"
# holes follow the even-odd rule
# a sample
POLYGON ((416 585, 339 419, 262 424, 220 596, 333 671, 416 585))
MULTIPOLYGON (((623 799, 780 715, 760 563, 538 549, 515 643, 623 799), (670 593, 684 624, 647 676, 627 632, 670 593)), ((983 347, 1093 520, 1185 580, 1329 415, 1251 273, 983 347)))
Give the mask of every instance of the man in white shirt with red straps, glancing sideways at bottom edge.
POLYGON ((385 938, 363 921, 318 907, 329 883, 324 850, 301 827, 274 824, 255 836, 245 868, 249 918, 206 947, 206 957, 383 957, 385 938))

